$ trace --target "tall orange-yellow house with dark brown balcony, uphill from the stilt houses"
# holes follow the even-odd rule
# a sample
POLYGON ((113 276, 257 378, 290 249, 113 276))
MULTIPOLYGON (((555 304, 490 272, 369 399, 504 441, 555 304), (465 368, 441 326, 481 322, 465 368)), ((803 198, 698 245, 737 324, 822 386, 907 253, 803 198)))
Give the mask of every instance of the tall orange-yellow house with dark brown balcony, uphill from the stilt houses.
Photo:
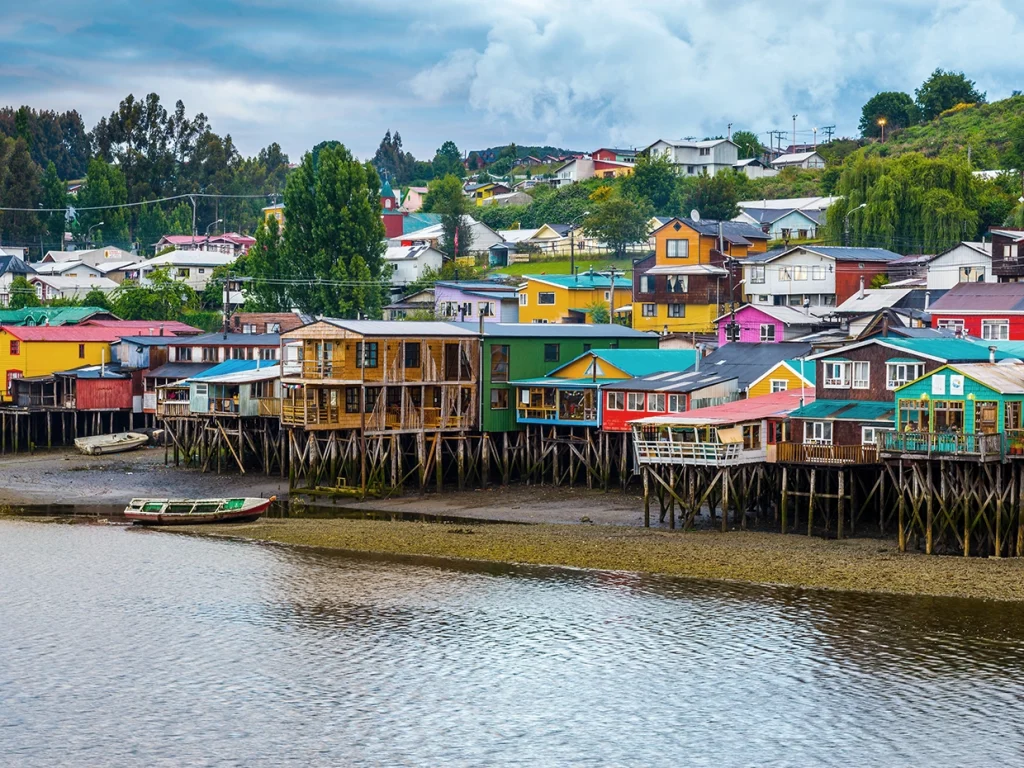
MULTIPOLYGON (((660 225, 650 240, 654 253, 633 268, 633 328, 714 332, 715 318, 729 302, 726 260, 764 253, 768 236, 738 221, 657 218, 656 222, 660 225)), ((737 300, 739 274, 738 268, 733 269, 737 300)))

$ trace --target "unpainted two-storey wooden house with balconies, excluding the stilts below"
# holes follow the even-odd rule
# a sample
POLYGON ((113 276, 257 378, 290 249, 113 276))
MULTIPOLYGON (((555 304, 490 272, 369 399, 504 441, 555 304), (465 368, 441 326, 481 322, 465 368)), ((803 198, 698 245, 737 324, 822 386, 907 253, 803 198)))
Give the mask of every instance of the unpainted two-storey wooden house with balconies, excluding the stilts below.
POLYGON ((282 424, 305 429, 465 431, 478 424, 479 335, 451 323, 324 318, 282 334, 298 345, 282 424))

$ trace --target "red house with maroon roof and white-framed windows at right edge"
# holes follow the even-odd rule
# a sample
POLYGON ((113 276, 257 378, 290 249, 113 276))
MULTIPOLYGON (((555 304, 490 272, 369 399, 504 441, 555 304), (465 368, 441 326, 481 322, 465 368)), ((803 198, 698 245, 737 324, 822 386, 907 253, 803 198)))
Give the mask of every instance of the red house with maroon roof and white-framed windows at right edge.
POLYGON ((1024 341, 1024 283, 958 283, 930 310, 933 328, 985 341, 1024 341))

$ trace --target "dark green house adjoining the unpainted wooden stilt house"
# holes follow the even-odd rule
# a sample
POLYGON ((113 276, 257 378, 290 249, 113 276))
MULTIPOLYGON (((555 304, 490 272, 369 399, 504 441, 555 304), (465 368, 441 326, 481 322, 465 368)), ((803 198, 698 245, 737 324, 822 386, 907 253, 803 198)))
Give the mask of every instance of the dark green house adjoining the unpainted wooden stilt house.
MULTIPOLYGON (((478 331, 475 323, 457 324, 478 331)), ((655 334, 613 324, 484 324, 480 367, 480 429, 514 432, 515 385, 536 379, 591 349, 657 349, 655 334)))

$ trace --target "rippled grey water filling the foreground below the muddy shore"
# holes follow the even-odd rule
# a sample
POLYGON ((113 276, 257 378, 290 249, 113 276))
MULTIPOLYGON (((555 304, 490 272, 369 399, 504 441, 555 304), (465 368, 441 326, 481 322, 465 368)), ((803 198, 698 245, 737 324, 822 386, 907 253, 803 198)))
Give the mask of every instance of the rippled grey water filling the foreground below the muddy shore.
POLYGON ((1022 620, 4 521, 0 764, 1024 764, 1022 620))

